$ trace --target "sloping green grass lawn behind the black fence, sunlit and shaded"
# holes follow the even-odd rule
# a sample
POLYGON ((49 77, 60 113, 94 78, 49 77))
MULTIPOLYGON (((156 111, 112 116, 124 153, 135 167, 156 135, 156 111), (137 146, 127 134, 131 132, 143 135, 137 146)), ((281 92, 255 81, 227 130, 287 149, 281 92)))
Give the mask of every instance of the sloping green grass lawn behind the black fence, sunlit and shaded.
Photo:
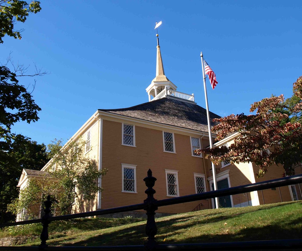
MULTIPOLYGON (((49 226, 54 226, 47 243, 50 246, 142 245, 146 239, 145 224, 142 219, 127 218, 51 222, 49 226)), ((156 219, 156 224, 159 244, 298 239, 302 237, 302 202, 202 210, 161 217, 156 219)))

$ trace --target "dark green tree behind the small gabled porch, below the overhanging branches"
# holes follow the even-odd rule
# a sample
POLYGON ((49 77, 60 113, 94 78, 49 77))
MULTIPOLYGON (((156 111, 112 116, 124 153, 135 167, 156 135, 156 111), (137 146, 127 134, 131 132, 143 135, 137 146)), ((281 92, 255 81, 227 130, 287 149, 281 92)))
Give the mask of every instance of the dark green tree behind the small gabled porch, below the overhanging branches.
POLYGON ((17 184, 23 168, 40 170, 48 161, 46 147, 22 135, 13 137, 11 149, 0 158, 0 222, 13 220, 7 205, 18 197, 17 184))

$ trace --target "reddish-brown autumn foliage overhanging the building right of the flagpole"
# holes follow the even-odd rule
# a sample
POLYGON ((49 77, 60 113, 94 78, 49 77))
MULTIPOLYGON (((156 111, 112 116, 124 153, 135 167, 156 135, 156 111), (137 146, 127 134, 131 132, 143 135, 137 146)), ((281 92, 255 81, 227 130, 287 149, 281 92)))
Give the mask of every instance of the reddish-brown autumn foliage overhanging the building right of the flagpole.
POLYGON ((216 140, 238 132, 238 137, 229 146, 199 149, 215 164, 229 160, 233 163, 253 162, 259 166, 258 176, 263 176, 272 164, 282 164, 284 175, 293 175, 301 166, 302 129, 299 123, 302 111, 302 76, 293 87, 294 95, 284 102, 283 95, 262 99, 251 105, 255 115, 229 115, 214 119, 218 124, 212 131, 216 140))

